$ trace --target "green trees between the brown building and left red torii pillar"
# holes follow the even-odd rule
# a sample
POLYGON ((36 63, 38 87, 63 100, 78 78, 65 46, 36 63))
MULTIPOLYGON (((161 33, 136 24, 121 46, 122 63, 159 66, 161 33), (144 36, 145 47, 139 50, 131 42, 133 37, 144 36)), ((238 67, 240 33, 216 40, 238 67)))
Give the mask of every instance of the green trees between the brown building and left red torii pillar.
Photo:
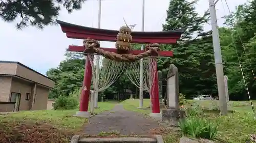
POLYGON ((73 91, 82 86, 84 59, 83 55, 76 52, 66 52, 66 60, 61 61, 59 67, 50 69, 47 76, 55 81, 49 98, 69 96, 73 91))

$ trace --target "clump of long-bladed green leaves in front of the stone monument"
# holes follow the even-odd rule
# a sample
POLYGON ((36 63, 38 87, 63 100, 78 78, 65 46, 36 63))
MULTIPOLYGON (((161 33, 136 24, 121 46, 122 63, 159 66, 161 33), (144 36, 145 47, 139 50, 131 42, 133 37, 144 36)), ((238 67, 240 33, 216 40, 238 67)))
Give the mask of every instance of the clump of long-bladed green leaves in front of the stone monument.
POLYGON ((217 135, 217 124, 198 117, 189 117, 179 122, 183 135, 212 139, 217 135))

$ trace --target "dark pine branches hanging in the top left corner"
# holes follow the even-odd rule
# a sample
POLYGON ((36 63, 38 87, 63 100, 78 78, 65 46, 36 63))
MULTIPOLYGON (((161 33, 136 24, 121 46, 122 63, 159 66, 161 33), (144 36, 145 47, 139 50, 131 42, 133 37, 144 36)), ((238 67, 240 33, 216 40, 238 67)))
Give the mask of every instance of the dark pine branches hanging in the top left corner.
POLYGON ((43 28, 55 24, 54 18, 59 15, 60 5, 71 13, 79 10, 86 0, 1 0, 0 17, 6 22, 17 20, 17 28, 28 25, 43 28))

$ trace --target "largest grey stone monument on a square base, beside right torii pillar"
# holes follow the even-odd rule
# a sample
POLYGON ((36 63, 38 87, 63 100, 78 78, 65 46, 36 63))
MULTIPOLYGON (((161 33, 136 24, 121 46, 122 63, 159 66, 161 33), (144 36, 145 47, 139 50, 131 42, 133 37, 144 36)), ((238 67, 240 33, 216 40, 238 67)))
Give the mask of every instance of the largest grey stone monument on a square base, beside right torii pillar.
POLYGON ((166 92, 167 109, 162 110, 162 121, 171 126, 178 126, 179 120, 185 117, 185 111, 179 107, 179 75, 174 64, 169 67, 166 92))

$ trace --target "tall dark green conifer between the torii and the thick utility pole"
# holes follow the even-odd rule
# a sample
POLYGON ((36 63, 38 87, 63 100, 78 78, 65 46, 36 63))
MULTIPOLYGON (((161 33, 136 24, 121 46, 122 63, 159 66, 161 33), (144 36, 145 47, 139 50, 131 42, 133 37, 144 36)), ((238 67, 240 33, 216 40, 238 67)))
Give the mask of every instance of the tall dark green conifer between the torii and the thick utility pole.
MULTIPOLYGON (((211 33, 203 31, 209 13, 199 16, 196 12, 197 1, 173 0, 169 3, 163 30, 185 30, 177 45, 163 46, 165 50, 173 50, 174 57, 160 59, 159 70, 163 75, 170 64, 179 69, 180 92, 187 97, 198 94, 216 94, 216 75, 211 33)), ((166 83, 165 83, 166 84, 166 83)))

